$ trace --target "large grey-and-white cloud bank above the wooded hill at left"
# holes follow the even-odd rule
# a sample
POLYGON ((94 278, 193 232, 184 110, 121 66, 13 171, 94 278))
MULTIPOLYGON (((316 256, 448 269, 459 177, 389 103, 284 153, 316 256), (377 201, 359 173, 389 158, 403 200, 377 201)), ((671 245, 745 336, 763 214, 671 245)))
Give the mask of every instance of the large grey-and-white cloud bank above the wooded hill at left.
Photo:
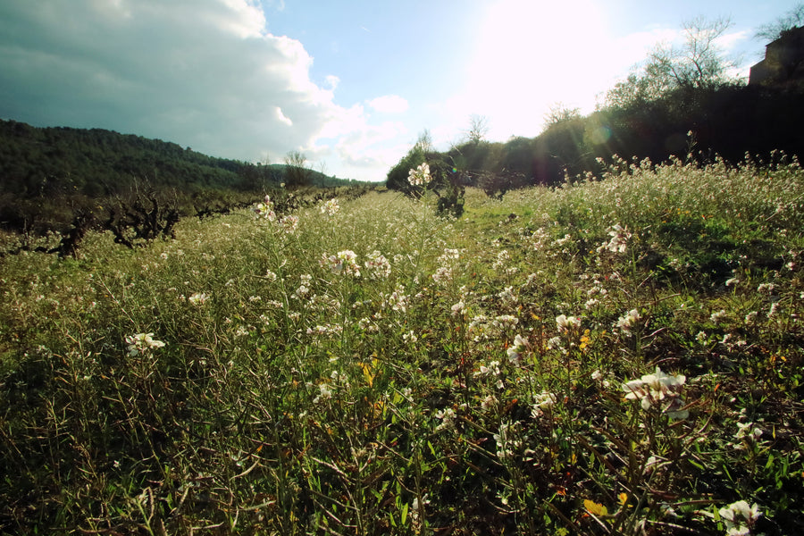
POLYGON ((312 63, 299 41, 267 31, 256 0, 0 3, 0 117, 42 126, 241 160, 305 148, 356 161, 350 151, 371 149, 367 133, 387 127, 336 105, 338 77, 317 85, 312 63))

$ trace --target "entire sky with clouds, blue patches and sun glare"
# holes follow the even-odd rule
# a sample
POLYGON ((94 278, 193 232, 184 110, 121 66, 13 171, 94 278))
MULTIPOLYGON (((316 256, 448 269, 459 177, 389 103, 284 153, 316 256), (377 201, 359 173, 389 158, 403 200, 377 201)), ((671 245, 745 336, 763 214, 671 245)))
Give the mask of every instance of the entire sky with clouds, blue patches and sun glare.
POLYGON ((590 113, 683 22, 729 17, 734 74, 798 0, 4 0, 0 119, 99 128, 206 155, 384 180, 436 148, 532 138, 590 113))

